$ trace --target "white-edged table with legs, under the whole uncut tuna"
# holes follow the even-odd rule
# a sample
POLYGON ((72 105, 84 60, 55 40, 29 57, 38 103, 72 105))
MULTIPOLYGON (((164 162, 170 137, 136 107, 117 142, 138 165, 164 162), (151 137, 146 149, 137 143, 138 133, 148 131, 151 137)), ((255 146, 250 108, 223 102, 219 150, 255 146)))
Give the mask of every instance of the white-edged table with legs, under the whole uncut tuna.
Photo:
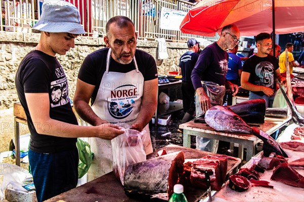
MULTIPOLYGON (((265 122, 259 124, 259 128, 267 134, 272 134, 290 121, 291 117, 286 119, 265 117, 265 122)), ((246 161, 248 162, 254 156, 255 145, 261 140, 252 134, 219 132, 208 126, 206 123, 194 123, 193 121, 179 125, 183 129, 183 146, 191 146, 191 135, 217 139, 226 142, 239 144, 239 158, 243 159, 243 146, 247 148, 246 161)))

